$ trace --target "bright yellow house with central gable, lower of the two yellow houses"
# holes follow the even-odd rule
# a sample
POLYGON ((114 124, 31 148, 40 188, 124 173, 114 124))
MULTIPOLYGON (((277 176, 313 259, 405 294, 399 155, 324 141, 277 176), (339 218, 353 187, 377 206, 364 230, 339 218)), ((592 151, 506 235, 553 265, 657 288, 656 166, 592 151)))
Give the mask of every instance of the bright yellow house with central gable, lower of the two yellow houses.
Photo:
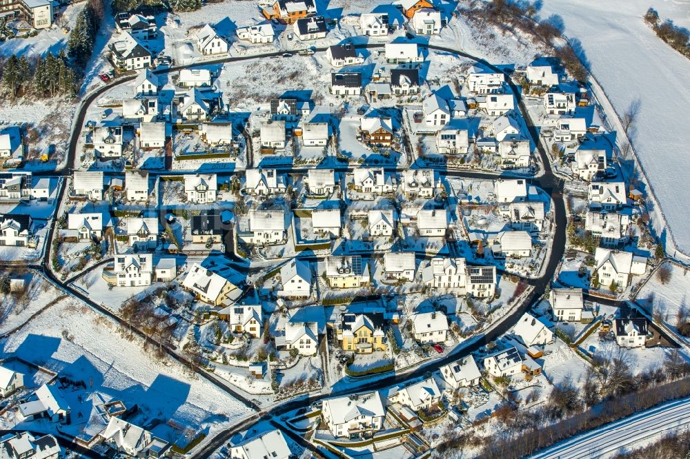
POLYGON ((355 354, 385 351, 383 323, 384 316, 380 313, 343 314, 339 330, 342 349, 355 354))

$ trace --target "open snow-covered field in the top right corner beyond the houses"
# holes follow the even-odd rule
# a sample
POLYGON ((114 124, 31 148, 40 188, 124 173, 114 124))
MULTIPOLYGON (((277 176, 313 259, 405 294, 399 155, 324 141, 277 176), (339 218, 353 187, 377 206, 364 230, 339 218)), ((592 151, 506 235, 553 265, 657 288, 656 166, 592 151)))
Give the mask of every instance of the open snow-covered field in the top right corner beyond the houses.
MULTIPOLYGON (((690 27, 690 3, 684 0, 544 1, 540 15, 558 14, 565 33, 582 42, 595 78, 622 116, 640 101, 632 142, 678 248, 690 252, 690 181, 687 107, 690 105, 690 59, 661 41, 642 16, 655 8, 664 21, 690 27)), ((658 233, 664 229, 657 223, 658 233)), ((673 255, 673 254, 671 254, 673 255)))

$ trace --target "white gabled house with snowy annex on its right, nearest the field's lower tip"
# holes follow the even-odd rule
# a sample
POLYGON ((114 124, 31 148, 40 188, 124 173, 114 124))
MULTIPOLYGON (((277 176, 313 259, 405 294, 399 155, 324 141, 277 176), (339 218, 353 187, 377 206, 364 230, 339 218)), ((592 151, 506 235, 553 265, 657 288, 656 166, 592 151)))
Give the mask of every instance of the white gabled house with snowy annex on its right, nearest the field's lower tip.
POLYGON ((598 247, 594 252, 592 285, 625 289, 631 276, 642 276, 647 270, 647 259, 631 252, 598 247))

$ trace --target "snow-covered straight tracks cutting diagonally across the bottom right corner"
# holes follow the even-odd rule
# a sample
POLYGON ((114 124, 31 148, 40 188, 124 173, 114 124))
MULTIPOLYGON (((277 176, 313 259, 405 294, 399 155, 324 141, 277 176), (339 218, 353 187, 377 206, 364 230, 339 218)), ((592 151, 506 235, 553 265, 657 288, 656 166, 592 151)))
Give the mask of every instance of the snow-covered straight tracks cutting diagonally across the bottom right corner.
POLYGON ((690 425, 690 398, 683 398, 582 433, 530 457, 531 459, 606 457, 627 449, 628 446, 636 444, 642 446, 639 444, 644 440, 687 425, 690 425))

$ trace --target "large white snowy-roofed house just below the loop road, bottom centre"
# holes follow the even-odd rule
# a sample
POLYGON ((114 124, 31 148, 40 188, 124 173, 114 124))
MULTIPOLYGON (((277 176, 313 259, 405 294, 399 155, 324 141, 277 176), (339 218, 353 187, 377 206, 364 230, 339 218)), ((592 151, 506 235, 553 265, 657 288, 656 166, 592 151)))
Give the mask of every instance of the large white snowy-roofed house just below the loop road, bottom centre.
POLYGON ((383 429, 386 407, 378 392, 326 398, 321 416, 335 437, 371 435, 383 429))

